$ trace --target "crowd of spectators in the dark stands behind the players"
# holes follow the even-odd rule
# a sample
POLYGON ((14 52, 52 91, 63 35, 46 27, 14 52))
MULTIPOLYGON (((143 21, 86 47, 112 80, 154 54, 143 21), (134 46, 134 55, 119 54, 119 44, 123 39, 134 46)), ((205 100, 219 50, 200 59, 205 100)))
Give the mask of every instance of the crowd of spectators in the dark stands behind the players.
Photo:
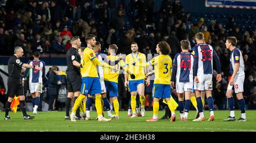
POLYGON ((187 39, 193 47, 195 34, 203 32, 221 61, 223 78, 213 86, 214 103, 221 108, 226 104, 230 64, 225 38, 236 36, 245 61, 243 95, 246 104, 256 104, 256 31, 242 31, 237 22, 235 16, 228 23, 206 22, 203 16, 194 22, 179 0, 8 0, 0 7, 0 55, 10 56, 16 46, 28 56, 33 51, 65 54, 73 36, 80 36, 86 46, 84 37, 91 33, 100 41, 102 53, 107 53, 108 45, 117 44, 118 53, 129 54, 135 41, 140 52, 154 54, 158 41, 165 40, 174 58, 181 51, 179 41, 187 39))

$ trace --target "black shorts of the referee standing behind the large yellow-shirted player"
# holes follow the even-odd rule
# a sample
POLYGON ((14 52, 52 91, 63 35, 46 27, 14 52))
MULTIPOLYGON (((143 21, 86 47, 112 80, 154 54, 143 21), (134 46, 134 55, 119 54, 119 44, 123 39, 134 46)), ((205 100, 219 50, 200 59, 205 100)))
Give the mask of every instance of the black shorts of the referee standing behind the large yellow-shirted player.
POLYGON ((81 89, 81 74, 77 72, 67 72, 68 92, 77 92, 81 89))

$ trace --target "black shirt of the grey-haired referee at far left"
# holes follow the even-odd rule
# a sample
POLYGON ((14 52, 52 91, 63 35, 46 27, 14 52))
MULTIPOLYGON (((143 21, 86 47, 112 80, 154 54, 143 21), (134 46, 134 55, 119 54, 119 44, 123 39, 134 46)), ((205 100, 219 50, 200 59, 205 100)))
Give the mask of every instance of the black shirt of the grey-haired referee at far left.
POLYGON ((11 56, 8 61, 8 75, 13 78, 22 78, 21 69, 23 62, 15 55, 11 56))

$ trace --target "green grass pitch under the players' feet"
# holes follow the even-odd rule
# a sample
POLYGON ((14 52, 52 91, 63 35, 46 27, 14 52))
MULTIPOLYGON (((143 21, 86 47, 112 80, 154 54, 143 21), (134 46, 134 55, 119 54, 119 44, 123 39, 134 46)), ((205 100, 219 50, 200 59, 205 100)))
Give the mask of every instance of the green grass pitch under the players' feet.
MULTIPOLYGON (((105 115, 106 112, 104 112, 105 115)), ((114 113, 114 112, 112 112, 114 113)), ((240 111, 235 111, 236 119, 241 115, 240 111)), ((154 123, 147 123, 145 120, 152 116, 152 111, 146 111, 146 116, 136 117, 131 119, 127 117, 127 111, 119 112, 119 120, 112 120, 110 122, 98 123, 97 120, 77 120, 71 122, 64 120, 65 112, 39 112, 35 115, 33 120, 23 120, 22 112, 10 112, 11 120, 3 120, 5 112, 0 112, 0 131, 37 131, 37 132, 70 132, 70 131, 86 131, 86 132, 202 132, 202 131, 217 131, 217 132, 256 132, 256 111, 247 110, 245 122, 224 122, 222 121, 229 116, 229 111, 214 111, 215 121, 192 121, 196 112, 191 111, 188 115, 188 121, 179 120, 179 111, 176 111, 176 121, 158 120, 154 123)), ((32 112, 28 112, 32 115, 32 112)), ((159 111, 158 116, 162 117, 164 111, 159 111)), ((209 111, 204 112, 205 117, 208 119, 209 111)), ((96 111, 91 112, 91 117, 96 117, 96 111)))

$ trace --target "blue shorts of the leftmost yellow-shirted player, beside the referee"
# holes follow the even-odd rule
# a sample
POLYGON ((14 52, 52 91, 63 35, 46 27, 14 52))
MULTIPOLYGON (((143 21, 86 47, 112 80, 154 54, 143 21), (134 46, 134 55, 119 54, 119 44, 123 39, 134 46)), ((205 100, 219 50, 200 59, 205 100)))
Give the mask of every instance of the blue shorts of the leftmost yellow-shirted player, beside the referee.
POLYGON ((81 94, 101 94, 101 82, 98 77, 82 77, 81 94))

